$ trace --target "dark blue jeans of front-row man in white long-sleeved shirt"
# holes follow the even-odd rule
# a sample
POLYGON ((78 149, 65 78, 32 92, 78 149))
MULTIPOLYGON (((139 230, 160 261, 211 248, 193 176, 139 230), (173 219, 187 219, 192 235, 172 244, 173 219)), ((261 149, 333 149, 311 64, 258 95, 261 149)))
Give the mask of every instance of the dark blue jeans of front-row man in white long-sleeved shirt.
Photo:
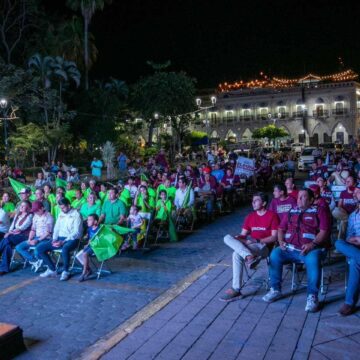
MULTIPOLYGON (((64 238, 58 238, 59 241, 64 241, 64 238)), ((37 256, 43 260, 44 265, 52 271, 55 271, 55 264, 53 263, 50 252, 53 250, 61 249, 61 258, 63 261, 64 271, 69 271, 70 253, 74 251, 78 246, 79 240, 68 240, 65 241, 62 247, 55 247, 52 244, 52 240, 42 241, 37 247, 37 256)))

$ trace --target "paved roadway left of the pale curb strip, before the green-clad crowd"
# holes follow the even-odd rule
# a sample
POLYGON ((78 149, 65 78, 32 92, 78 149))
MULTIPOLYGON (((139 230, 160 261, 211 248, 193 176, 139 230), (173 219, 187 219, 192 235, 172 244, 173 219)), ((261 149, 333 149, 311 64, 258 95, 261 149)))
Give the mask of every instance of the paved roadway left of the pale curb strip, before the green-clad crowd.
POLYGON ((113 274, 100 280, 40 279, 29 268, 1 277, 0 322, 19 325, 28 346, 19 359, 77 358, 193 270, 224 259, 223 236, 238 231, 247 211, 223 216, 178 243, 123 254, 109 262, 113 274))

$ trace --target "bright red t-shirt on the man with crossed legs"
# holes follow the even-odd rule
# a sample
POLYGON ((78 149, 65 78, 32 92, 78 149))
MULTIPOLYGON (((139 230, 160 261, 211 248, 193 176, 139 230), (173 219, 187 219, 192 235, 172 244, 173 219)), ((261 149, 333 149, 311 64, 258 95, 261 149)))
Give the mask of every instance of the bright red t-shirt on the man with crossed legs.
POLYGON ((250 231, 250 236, 258 240, 271 236, 271 230, 277 230, 278 227, 279 218, 270 210, 261 216, 256 211, 250 213, 243 225, 243 229, 250 231))

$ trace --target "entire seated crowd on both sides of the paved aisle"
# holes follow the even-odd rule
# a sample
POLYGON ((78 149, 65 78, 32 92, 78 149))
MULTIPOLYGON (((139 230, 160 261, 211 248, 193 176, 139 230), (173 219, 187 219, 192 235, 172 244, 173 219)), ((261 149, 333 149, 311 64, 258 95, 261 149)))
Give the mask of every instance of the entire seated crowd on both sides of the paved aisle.
POLYGON ((29 262, 35 271, 46 270, 41 277, 57 274, 52 254, 62 259, 60 280, 70 278, 71 256, 87 239, 83 272, 80 281, 91 274, 89 257, 93 255, 91 239, 101 224, 120 225, 133 230, 127 235, 122 251, 142 246, 147 223, 174 222, 180 231, 194 223, 198 215, 212 221, 218 208, 234 207, 237 191, 246 187, 265 188, 270 178, 281 180, 273 188, 273 199, 257 192, 253 195, 250 213, 239 235, 225 236, 233 251, 233 285, 222 298, 225 301, 241 296, 243 266, 254 269, 261 259, 269 258, 270 291, 263 297, 272 302, 281 297, 282 268, 286 263, 303 263, 308 275, 307 311, 318 309, 318 291, 322 260, 332 245, 332 223, 338 221, 337 249, 349 263, 349 285, 343 315, 352 313, 357 302, 360 282, 360 222, 358 221, 360 189, 360 156, 334 158, 334 172, 318 159, 310 171, 310 185, 298 190, 294 184, 292 157, 278 158, 272 167, 265 158, 257 161, 251 178, 235 175, 236 155, 230 153, 198 166, 178 165, 171 170, 164 156, 146 164, 130 163, 126 181, 116 186, 79 180, 76 172, 65 175, 53 164, 56 173, 53 187, 39 173, 34 193, 29 187, 18 192, 21 201, 11 202, 4 193, 0 208, 0 274, 10 271, 13 249, 29 262), (61 184, 61 185, 59 185, 61 184), (344 189, 336 199, 332 185, 344 189), (30 202, 30 200, 32 202, 30 202), (150 215, 150 216, 146 216, 150 215), (150 219, 150 220, 149 220, 150 219))

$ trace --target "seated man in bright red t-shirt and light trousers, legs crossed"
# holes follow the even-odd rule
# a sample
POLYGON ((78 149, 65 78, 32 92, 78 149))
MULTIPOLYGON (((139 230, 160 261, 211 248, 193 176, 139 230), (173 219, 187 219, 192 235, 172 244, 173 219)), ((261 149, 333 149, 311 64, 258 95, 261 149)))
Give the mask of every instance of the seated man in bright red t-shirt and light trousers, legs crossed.
POLYGON ((240 235, 224 237, 225 244, 234 252, 232 288, 220 298, 222 301, 232 301, 241 296, 240 279, 244 263, 250 269, 255 268, 262 258, 268 256, 267 245, 273 244, 277 239, 279 218, 272 211, 266 210, 267 203, 266 194, 255 193, 252 200, 254 211, 245 218, 240 235))

